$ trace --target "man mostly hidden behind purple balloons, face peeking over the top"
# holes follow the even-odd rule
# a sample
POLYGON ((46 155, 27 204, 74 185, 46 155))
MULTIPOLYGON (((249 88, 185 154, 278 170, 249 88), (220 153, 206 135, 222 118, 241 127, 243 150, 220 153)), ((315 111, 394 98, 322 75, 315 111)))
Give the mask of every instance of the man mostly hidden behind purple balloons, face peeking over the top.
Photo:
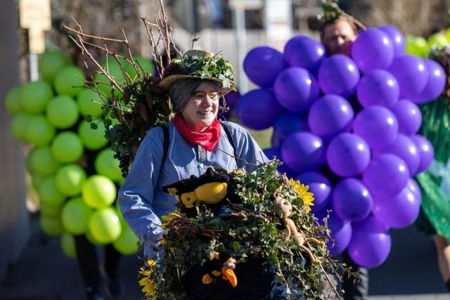
MULTIPOLYGON (((352 43, 358 37, 358 27, 344 17, 326 20, 321 27, 321 42, 325 47, 328 56, 333 54, 343 54, 350 56, 352 43)), ((358 101, 349 99, 356 104, 358 109, 358 101)), ((333 174, 330 172, 330 176, 333 174)), ((347 250, 342 253, 342 259, 350 267, 352 272, 359 273, 359 281, 354 283, 353 278, 343 278, 342 289, 345 291, 345 300, 364 300, 368 297, 368 269, 358 266, 352 261, 347 250)))

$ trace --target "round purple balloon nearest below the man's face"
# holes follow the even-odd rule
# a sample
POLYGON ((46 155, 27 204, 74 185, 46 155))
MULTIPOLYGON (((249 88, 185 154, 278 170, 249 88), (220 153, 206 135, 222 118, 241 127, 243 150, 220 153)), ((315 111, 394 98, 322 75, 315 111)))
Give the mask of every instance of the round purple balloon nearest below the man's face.
POLYGON ((348 56, 335 54, 323 60, 318 79, 323 93, 335 93, 347 98, 356 89, 359 69, 348 56))

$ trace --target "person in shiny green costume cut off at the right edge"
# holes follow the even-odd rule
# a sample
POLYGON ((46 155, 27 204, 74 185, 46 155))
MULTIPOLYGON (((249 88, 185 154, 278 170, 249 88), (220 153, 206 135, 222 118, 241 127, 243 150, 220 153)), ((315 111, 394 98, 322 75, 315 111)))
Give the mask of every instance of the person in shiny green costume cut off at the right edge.
POLYGON ((418 134, 430 141, 435 157, 430 167, 416 176, 422 202, 416 220, 416 228, 433 237, 437 250, 437 265, 450 292, 450 189, 445 177, 449 176, 450 143, 450 48, 439 50, 433 55, 445 71, 446 86, 436 100, 419 105, 422 112, 422 126, 418 134))

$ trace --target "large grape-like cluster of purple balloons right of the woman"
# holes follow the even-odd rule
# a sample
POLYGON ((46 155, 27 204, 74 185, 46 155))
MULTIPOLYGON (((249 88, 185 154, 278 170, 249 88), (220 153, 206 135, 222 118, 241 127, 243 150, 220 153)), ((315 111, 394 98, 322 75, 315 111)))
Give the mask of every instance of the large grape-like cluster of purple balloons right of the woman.
POLYGON ((260 88, 236 105, 241 124, 274 126, 266 155, 281 158, 281 171, 309 185, 314 214, 333 211, 331 254, 347 249, 369 268, 387 259, 389 228, 418 216, 420 190, 411 176, 434 157, 430 142, 416 134, 417 104, 439 96, 444 70, 404 50, 392 26, 361 32, 352 57, 326 57, 323 45, 305 36, 290 39, 283 53, 260 46, 243 63, 260 88))

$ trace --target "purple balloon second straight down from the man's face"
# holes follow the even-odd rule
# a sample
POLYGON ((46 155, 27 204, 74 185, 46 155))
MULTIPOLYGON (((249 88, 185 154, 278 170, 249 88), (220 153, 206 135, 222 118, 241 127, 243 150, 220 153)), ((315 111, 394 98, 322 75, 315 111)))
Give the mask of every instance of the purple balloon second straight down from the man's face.
POLYGON ((313 103, 308 115, 311 132, 329 141, 336 134, 350 131, 354 112, 352 105, 338 95, 325 95, 313 103))

